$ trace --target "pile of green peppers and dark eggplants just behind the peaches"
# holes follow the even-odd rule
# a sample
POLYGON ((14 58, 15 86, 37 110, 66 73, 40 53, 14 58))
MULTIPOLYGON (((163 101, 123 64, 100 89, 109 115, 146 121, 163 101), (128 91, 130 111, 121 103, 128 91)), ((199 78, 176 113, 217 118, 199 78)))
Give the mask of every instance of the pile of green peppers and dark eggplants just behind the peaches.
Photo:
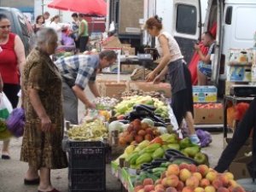
POLYGON ((144 140, 137 147, 130 145, 125 148, 125 153, 115 160, 117 164, 120 158, 125 158, 130 167, 135 169, 145 169, 162 162, 208 164, 207 154, 201 153, 199 146, 192 144, 189 138, 178 141, 174 133, 155 137, 151 142, 144 140), (148 164, 151 162, 153 165, 148 164))

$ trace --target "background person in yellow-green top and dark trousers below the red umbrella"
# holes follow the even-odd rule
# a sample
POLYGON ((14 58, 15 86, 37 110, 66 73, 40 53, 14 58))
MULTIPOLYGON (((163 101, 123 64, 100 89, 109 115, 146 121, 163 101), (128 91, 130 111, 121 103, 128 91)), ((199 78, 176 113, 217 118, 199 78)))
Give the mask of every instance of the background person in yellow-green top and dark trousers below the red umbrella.
POLYGON ((87 49, 87 44, 89 40, 89 33, 88 33, 88 23, 84 20, 84 15, 79 14, 79 37, 76 39, 79 41, 79 52, 83 53, 84 50, 87 49))

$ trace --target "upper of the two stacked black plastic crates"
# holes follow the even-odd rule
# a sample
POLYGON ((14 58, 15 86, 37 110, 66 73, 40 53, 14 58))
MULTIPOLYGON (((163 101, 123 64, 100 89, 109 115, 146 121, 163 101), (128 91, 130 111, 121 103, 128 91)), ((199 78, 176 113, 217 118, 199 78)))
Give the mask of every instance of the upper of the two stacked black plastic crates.
POLYGON ((69 143, 68 160, 71 169, 105 169, 105 144, 101 142, 69 143))

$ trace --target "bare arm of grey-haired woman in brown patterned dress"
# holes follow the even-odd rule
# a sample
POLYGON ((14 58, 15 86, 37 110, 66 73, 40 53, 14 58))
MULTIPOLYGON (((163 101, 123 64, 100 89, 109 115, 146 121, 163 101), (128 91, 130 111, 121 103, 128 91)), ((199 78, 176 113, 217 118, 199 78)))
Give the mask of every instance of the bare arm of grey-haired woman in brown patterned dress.
POLYGON ((44 106, 38 96, 38 90, 29 88, 28 89, 28 96, 32 103, 32 107, 34 108, 35 112, 38 114, 39 119, 41 119, 41 129, 42 131, 51 131, 51 121, 49 119, 48 114, 46 113, 44 106))

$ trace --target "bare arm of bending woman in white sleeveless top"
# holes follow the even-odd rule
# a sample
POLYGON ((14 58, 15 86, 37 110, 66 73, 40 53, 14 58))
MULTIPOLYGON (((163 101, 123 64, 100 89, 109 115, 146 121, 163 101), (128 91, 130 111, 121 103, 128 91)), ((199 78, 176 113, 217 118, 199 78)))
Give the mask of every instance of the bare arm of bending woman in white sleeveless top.
POLYGON ((162 51, 163 51, 163 56, 160 60, 159 65, 154 69, 153 72, 148 74, 148 76, 146 78, 147 81, 153 81, 155 76, 158 73, 160 73, 160 71, 168 65, 169 61, 172 58, 172 56, 170 54, 169 45, 168 45, 168 39, 164 35, 161 35, 159 37, 159 43, 160 43, 160 47, 162 48, 162 51))

